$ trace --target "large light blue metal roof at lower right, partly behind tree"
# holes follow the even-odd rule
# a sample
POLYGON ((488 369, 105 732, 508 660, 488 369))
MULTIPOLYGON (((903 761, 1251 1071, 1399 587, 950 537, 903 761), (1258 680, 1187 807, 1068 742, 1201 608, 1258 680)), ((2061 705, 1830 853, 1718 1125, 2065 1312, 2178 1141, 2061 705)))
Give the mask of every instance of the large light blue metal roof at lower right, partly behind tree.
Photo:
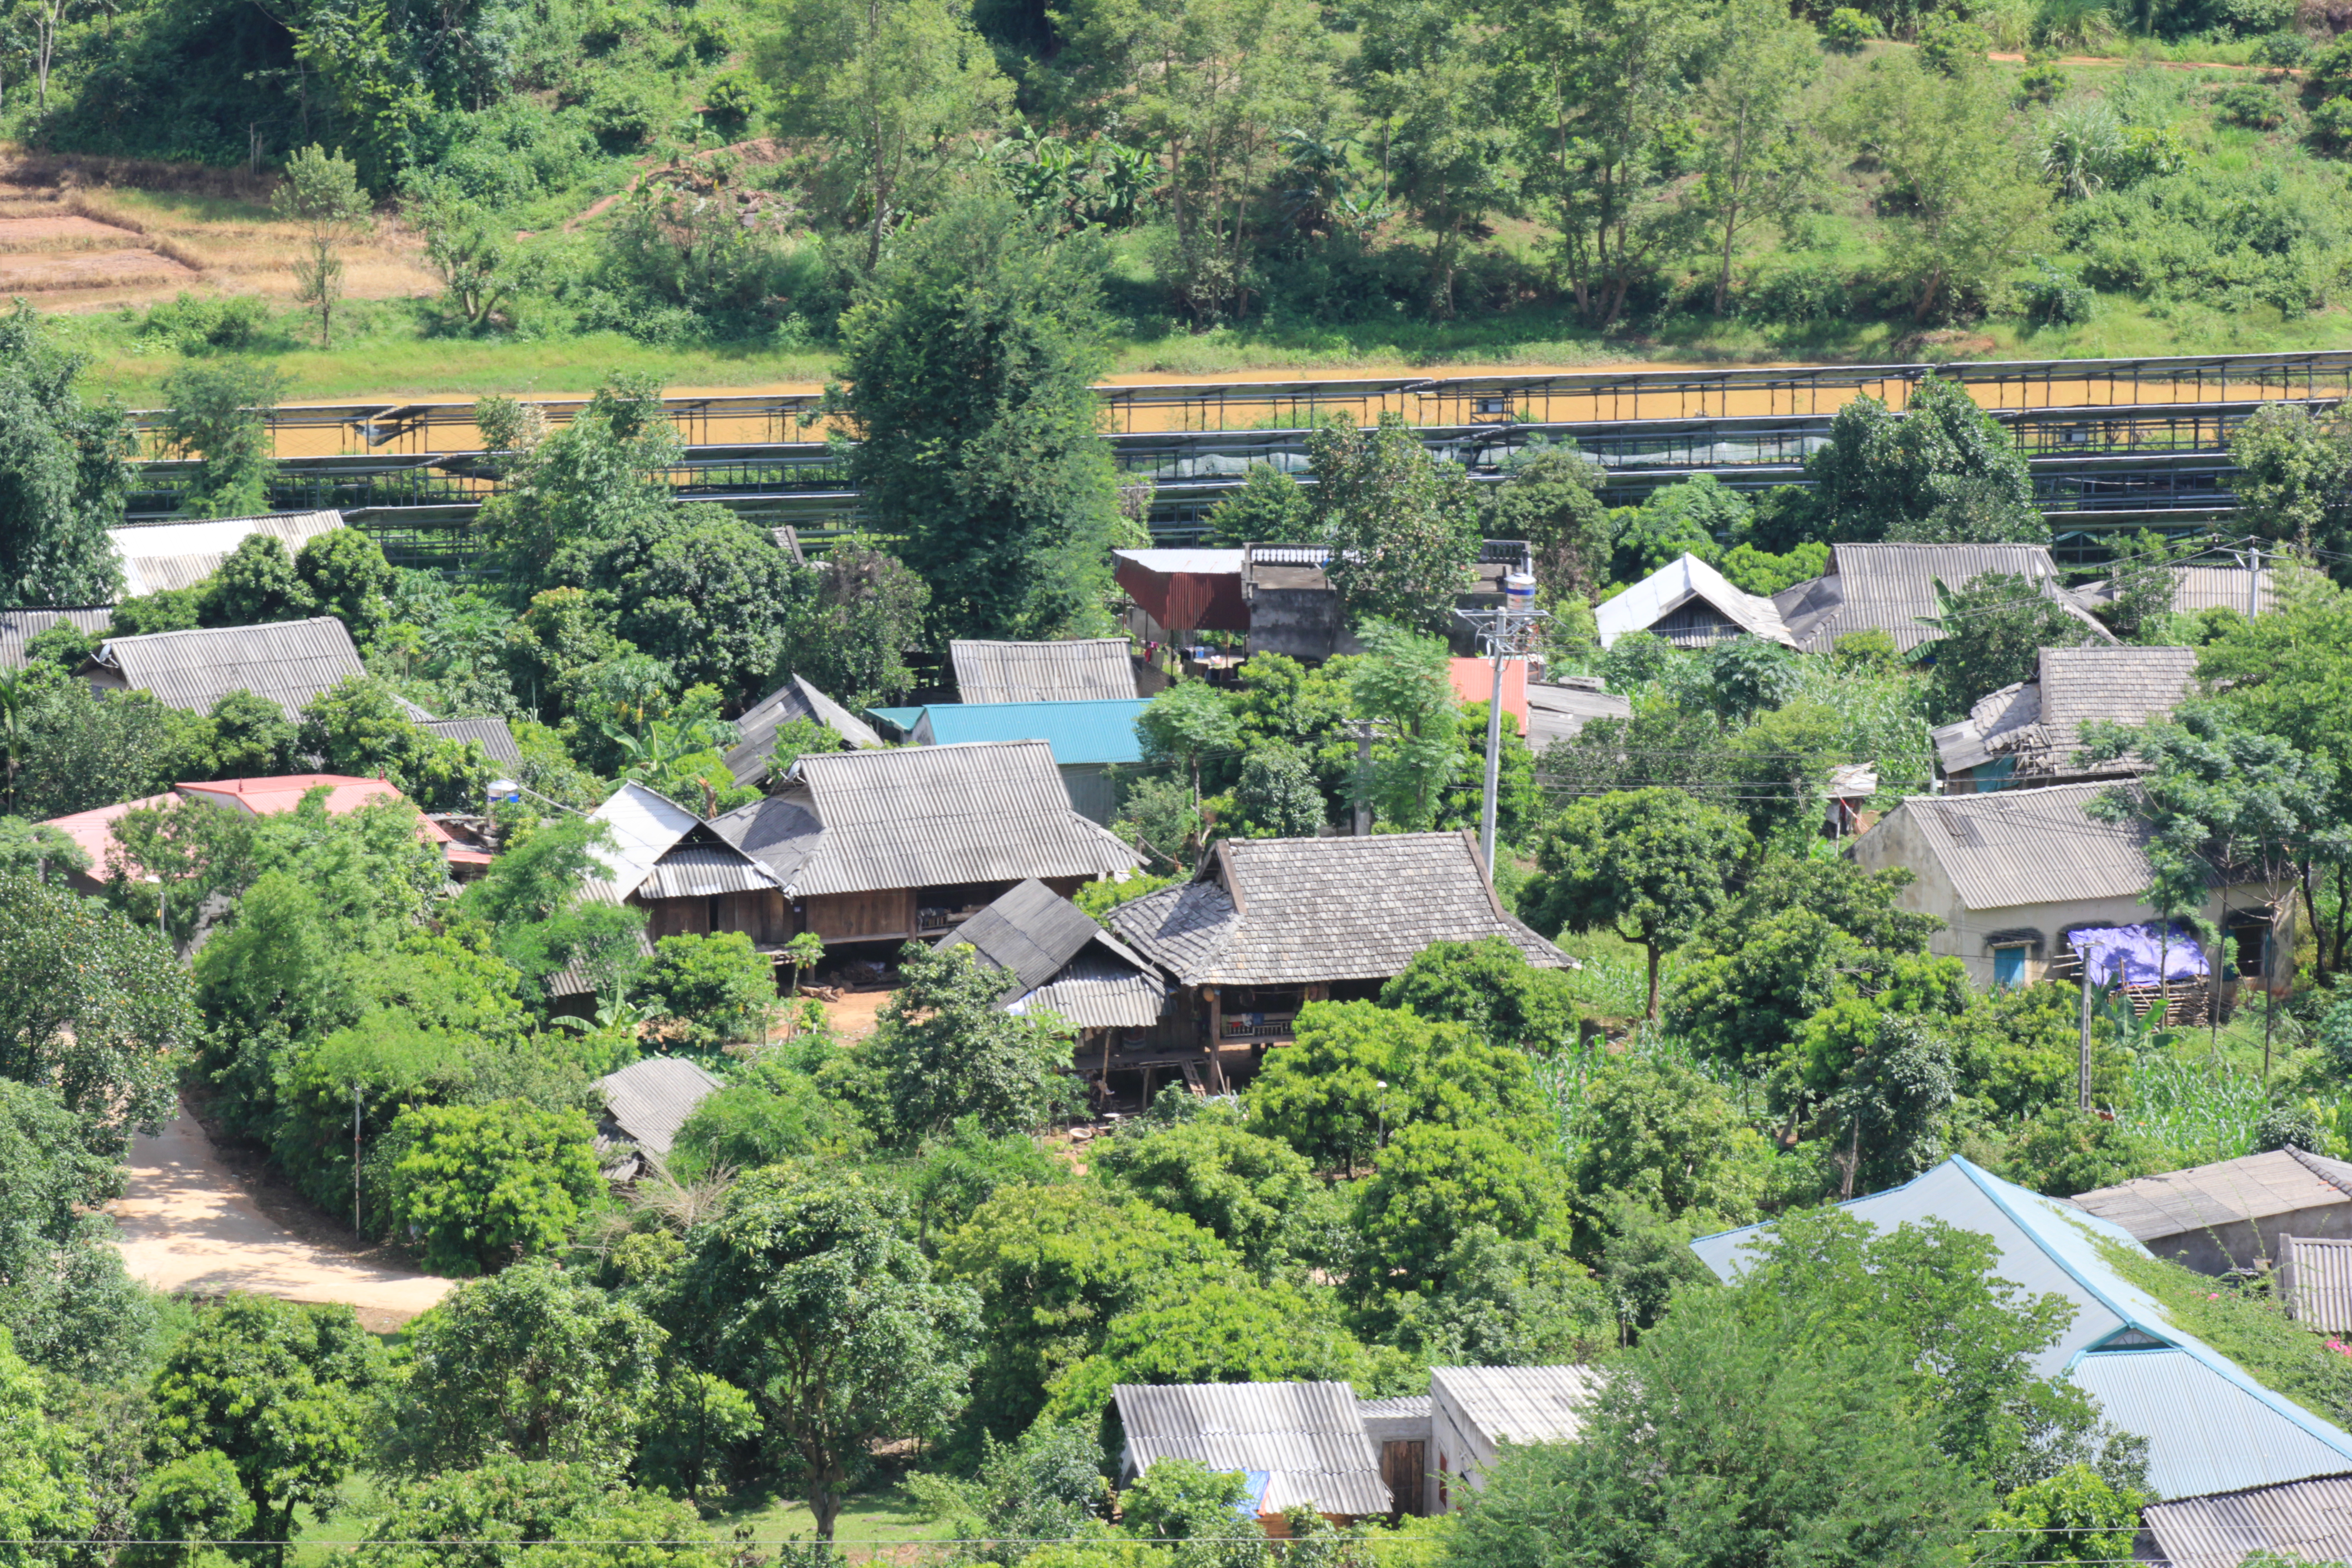
MULTIPOLYGON (((1842 1204, 1879 1229, 1943 1220, 1992 1237, 1997 1272, 2027 1295, 2058 1293, 2074 1321, 2034 1371, 2063 1373, 2107 1420, 2147 1439, 2147 1481, 2166 1497, 2277 1486, 2352 1472, 2352 1434, 2246 1375, 2173 1326, 2147 1291, 2100 1258, 2100 1241, 2147 1255, 2122 1225, 1947 1159, 1900 1187, 1842 1204)), ((1722 1279, 1748 1267, 1764 1225, 1700 1237, 1700 1262, 1722 1279)))

